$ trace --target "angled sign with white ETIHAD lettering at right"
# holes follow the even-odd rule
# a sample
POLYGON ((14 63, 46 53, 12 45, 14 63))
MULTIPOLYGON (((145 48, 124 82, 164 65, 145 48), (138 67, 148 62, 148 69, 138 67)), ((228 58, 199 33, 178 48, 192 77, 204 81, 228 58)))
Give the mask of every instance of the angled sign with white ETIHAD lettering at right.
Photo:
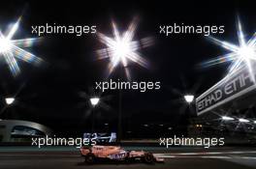
POLYGON ((255 71, 251 74, 247 68, 243 67, 208 89, 207 92, 196 99, 198 115, 255 90, 256 85, 252 75, 256 78, 255 71))

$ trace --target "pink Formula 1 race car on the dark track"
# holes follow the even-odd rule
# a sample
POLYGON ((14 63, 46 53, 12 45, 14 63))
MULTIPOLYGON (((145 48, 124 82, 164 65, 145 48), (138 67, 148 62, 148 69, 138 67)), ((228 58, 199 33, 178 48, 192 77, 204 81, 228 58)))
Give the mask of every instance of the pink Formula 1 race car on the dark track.
POLYGON ((163 162, 163 158, 156 157, 144 151, 125 151, 120 146, 94 145, 90 148, 80 148, 80 153, 85 157, 88 164, 94 163, 97 159, 110 159, 122 161, 141 160, 145 163, 163 162))

